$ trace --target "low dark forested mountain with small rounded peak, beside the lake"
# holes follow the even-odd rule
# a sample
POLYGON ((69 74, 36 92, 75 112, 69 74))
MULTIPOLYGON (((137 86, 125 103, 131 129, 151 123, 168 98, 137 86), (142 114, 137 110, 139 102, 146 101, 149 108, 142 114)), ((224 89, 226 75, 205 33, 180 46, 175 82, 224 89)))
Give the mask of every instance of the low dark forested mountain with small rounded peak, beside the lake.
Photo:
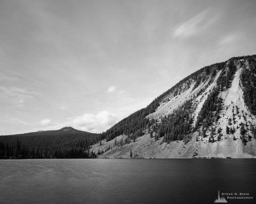
POLYGON ((60 130, 37 131, 0 136, 0 158, 95 158, 86 151, 100 140, 100 134, 64 127, 60 130))

